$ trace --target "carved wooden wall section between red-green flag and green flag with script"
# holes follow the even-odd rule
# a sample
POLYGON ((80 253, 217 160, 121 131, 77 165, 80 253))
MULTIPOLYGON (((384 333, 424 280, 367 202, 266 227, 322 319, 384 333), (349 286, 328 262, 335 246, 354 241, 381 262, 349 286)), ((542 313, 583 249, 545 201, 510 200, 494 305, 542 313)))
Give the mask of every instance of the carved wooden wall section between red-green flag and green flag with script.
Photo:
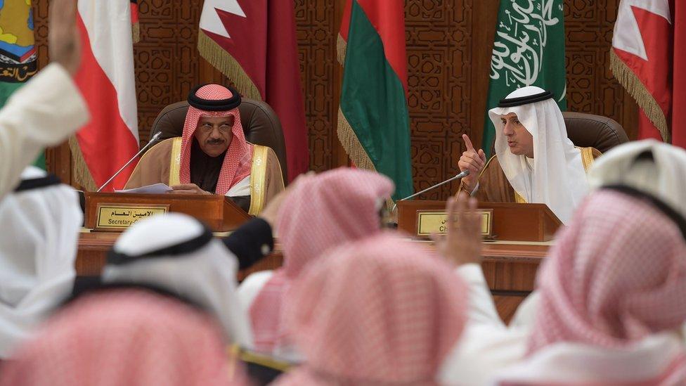
MULTIPOLYGON (((471 134, 472 0, 407 1, 408 106, 416 190, 458 170, 463 133, 471 134)), ((457 185, 423 195, 447 197, 457 185)))

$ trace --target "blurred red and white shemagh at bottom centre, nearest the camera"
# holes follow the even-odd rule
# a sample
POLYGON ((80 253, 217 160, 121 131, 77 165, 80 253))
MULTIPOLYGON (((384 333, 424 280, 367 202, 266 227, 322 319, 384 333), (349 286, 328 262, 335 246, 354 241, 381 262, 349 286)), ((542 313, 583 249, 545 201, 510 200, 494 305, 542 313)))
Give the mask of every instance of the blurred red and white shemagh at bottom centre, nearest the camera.
POLYGON ((467 286, 434 252, 392 233, 306 269, 285 322, 305 363, 277 385, 434 385, 467 319, 467 286))

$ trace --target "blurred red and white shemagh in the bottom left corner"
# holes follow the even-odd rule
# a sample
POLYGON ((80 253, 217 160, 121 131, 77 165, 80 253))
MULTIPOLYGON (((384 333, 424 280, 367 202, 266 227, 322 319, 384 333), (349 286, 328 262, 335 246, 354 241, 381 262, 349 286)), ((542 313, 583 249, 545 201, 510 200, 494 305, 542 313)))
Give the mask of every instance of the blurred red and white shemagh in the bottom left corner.
POLYGON ((84 295, 0 371, 0 385, 248 385, 216 322, 142 290, 84 295))

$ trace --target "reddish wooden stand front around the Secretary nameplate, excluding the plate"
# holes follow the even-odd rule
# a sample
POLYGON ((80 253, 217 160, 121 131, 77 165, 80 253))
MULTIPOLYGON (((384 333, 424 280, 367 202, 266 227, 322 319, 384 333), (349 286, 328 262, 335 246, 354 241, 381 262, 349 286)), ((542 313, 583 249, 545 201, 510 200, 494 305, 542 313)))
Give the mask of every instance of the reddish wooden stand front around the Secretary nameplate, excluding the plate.
MULTIPOLYGON (((169 212, 178 212, 205 222, 212 231, 237 229, 250 214, 224 195, 199 194, 136 194, 86 192, 86 228, 96 228, 98 205, 169 205, 169 212)), ((124 229, 112 230, 123 231, 124 229)))

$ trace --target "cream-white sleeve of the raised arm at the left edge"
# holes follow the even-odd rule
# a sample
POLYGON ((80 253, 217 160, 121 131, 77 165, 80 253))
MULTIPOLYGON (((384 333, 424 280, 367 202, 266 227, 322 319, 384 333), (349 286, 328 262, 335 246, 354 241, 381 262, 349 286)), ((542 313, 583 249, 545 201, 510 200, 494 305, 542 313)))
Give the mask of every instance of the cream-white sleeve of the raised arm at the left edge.
POLYGON ((58 145, 88 120, 79 89, 56 63, 15 91, 0 109, 0 200, 43 148, 58 145))

